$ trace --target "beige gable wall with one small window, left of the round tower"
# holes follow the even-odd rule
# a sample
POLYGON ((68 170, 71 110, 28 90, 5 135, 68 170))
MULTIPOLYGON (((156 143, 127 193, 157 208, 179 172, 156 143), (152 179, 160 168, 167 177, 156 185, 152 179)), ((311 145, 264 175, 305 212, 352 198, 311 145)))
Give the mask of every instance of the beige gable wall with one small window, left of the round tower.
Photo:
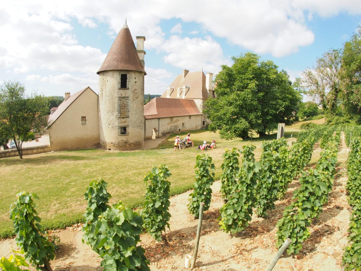
POLYGON ((85 90, 49 128, 49 139, 52 151, 97 147, 98 96, 85 90), (86 116, 86 124, 82 124, 82 116, 86 116))

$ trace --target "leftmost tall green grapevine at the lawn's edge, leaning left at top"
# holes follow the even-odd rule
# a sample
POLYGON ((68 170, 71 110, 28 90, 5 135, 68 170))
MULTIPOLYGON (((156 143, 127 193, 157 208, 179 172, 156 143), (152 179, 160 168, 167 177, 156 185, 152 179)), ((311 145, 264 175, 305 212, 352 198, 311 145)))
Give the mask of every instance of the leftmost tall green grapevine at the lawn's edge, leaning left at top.
POLYGON ((13 220, 16 244, 25 252, 26 261, 36 268, 44 265, 47 260, 54 259, 54 246, 44 237, 40 217, 35 210, 32 198, 36 194, 19 192, 17 201, 10 208, 10 219, 13 220))

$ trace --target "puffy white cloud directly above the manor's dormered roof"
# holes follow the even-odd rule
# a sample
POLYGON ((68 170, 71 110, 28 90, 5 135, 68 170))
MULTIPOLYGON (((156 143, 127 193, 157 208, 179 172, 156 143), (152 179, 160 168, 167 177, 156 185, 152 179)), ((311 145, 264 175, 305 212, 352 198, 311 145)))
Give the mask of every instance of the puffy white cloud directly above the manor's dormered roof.
POLYGON ((168 53, 164 57, 164 62, 181 69, 198 71, 203 68, 217 73, 220 65, 230 64, 230 61, 224 58, 219 43, 210 36, 206 39, 171 36, 164 42, 162 50, 168 53))

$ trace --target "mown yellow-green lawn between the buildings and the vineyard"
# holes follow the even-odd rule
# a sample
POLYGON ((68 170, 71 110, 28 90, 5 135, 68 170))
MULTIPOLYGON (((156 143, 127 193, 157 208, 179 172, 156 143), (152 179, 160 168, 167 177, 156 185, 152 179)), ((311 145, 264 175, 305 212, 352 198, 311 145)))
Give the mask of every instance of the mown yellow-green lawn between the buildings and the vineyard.
MULTIPOLYGON (((319 122, 318 120, 317 122, 319 122)), ((285 138, 297 137, 299 123, 286 126, 285 138)), ((186 132, 179 134, 186 137, 186 132)), ((195 147, 182 151, 173 150, 175 135, 155 149, 138 151, 103 151, 78 150, 44 153, 0 159, 0 238, 12 235, 12 221, 9 210, 16 201, 16 193, 29 191, 36 193, 36 210, 42 218, 45 228, 62 228, 81 221, 85 212, 86 200, 83 194, 92 180, 103 178, 108 182, 108 192, 112 195, 111 203, 122 201, 125 205, 142 205, 145 194, 144 175, 154 165, 166 164, 172 176, 171 193, 182 193, 192 187, 195 157, 206 153, 212 156, 216 166, 216 179, 221 175, 222 154, 225 149, 241 148, 253 143, 256 145, 256 159, 261 154, 263 140, 276 138, 276 134, 253 139, 234 139, 225 141, 217 133, 208 130, 191 132, 195 146, 204 140, 215 139, 217 149, 200 151, 195 147)))

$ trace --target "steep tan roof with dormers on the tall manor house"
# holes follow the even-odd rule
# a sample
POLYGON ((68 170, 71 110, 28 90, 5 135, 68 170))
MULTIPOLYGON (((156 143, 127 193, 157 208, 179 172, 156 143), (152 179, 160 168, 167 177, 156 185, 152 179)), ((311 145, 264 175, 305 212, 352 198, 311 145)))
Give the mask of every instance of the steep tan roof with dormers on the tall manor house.
MULTIPOLYGON (((188 72, 183 79, 183 74, 179 74, 175 77, 174 81, 169 85, 174 87, 173 92, 171 91, 169 98, 182 98, 181 91, 179 97, 177 97, 178 87, 181 89, 183 85, 189 86, 188 93, 186 93, 185 99, 208 99, 208 91, 205 87, 205 74, 203 71, 200 72, 188 72)), ((167 91, 163 93, 162 98, 167 97, 167 91)))

